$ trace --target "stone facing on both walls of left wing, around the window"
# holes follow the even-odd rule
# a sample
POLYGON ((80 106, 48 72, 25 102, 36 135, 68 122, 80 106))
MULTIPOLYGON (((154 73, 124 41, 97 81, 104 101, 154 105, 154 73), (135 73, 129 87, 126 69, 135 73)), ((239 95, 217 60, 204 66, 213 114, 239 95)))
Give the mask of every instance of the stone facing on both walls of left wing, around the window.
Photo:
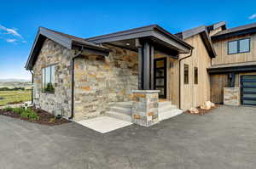
MULTIPOLYGON (((83 53, 74 62, 74 120, 108 110, 108 103, 129 101, 137 89, 137 53, 108 46, 108 57, 83 53)), ((33 67, 34 104, 54 113, 71 115, 71 59, 74 51, 47 39, 33 67), (55 93, 42 92, 42 69, 55 65, 55 93)))

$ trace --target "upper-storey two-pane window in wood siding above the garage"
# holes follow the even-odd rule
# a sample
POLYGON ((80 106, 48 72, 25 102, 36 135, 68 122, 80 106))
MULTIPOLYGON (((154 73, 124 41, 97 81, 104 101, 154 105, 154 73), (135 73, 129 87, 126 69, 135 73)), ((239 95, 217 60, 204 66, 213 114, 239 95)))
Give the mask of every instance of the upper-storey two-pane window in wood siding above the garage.
POLYGON ((250 52, 250 39, 240 39, 228 42, 228 54, 239 54, 250 52))

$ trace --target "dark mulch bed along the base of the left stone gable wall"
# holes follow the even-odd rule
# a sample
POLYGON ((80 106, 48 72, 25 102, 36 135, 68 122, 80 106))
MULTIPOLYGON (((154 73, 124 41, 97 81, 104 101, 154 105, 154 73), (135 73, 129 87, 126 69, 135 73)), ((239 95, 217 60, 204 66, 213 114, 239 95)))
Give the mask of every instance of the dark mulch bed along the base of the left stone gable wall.
POLYGON ((61 125, 61 124, 65 124, 65 123, 70 122, 70 121, 67 121, 67 119, 64 119, 64 118, 55 119, 54 115, 52 115, 49 112, 44 111, 44 110, 33 109, 33 108, 32 108, 32 110, 34 110, 38 114, 38 116, 39 116, 38 121, 29 119, 29 118, 21 117, 20 115, 16 114, 13 111, 0 110, 0 115, 7 115, 7 116, 10 116, 10 117, 20 119, 22 121, 34 122, 34 123, 39 123, 39 124, 47 125, 47 126, 56 126, 56 125, 61 125))

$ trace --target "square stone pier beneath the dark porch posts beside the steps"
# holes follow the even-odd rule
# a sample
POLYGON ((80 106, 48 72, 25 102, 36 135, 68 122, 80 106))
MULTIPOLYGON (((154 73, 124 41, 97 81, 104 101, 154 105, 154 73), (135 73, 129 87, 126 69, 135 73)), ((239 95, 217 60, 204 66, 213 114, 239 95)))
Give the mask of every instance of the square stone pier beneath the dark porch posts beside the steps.
POLYGON ((158 107, 160 90, 134 90, 131 120, 133 123, 150 127, 159 122, 158 107))

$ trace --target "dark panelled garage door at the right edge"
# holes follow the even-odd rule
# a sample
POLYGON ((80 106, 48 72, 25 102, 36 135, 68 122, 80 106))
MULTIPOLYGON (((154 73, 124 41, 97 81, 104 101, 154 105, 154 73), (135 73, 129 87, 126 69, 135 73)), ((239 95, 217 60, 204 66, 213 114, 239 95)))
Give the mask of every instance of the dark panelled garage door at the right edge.
POLYGON ((256 76, 241 76, 241 104, 256 105, 256 76))

